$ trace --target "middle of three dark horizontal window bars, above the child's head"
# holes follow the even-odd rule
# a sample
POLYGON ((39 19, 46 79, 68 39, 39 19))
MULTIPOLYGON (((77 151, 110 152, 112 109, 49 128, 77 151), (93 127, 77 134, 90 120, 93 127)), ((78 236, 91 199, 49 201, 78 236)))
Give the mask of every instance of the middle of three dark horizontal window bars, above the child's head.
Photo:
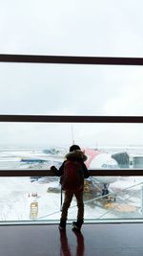
POLYGON ((143 116, 0 115, 0 122, 143 123, 143 116))

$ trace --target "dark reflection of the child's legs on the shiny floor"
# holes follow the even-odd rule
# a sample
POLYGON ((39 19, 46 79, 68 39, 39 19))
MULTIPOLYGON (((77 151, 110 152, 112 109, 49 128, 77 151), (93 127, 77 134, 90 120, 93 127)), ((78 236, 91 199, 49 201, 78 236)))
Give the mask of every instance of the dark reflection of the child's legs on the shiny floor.
MULTIPOLYGON (((76 256, 84 256, 84 237, 80 231, 72 229, 74 235, 76 236, 76 256)), ((66 231, 59 231, 60 232, 60 242, 61 242, 61 255, 63 256, 72 256, 72 252, 74 248, 72 245, 69 245, 68 237, 66 231)))

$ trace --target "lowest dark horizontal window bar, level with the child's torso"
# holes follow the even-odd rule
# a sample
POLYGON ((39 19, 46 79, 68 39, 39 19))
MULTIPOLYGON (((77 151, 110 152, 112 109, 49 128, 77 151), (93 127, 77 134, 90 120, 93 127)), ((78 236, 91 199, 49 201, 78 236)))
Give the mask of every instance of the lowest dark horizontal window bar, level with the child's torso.
MULTIPOLYGON (((143 170, 92 170, 91 176, 141 176, 143 170)), ((0 170, 0 176, 55 176, 50 170, 0 170)))

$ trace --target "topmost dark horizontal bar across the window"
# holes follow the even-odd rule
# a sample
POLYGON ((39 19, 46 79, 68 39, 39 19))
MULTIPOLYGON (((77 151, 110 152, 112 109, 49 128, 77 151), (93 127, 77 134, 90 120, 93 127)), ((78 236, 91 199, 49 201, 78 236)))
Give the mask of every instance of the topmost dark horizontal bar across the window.
POLYGON ((143 58, 112 57, 73 57, 73 56, 35 56, 0 55, 3 62, 60 63, 60 64, 96 64, 96 65, 143 65, 143 58))

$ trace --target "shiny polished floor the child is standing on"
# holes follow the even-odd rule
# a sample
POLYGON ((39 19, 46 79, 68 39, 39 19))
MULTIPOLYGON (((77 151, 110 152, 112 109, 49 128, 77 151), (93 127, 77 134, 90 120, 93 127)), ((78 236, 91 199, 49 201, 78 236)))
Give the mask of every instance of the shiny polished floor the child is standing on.
POLYGON ((0 256, 142 256, 143 223, 0 226, 0 256))

